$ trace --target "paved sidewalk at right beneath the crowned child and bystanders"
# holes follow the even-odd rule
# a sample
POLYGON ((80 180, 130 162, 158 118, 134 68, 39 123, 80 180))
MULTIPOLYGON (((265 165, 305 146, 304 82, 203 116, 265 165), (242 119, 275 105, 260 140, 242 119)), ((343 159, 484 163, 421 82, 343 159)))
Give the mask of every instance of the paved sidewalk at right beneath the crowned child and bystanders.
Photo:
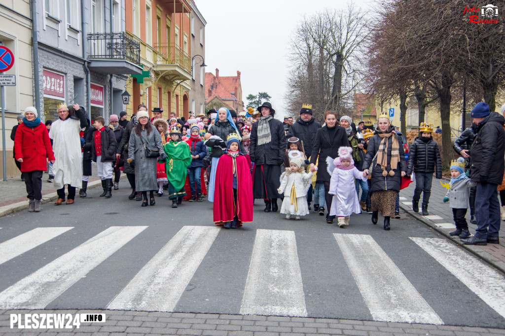
MULTIPOLYGON (((421 215, 421 201, 419 202, 419 213, 412 211, 412 196, 416 188, 416 182, 412 182, 408 188, 400 191, 400 208, 410 215, 426 223, 426 225, 437 230, 444 236, 452 239, 456 244, 461 245, 478 257, 486 260, 491 265, 495 266, 502 272, 505 272, 505 222, 502 222, 499 232, 500 244, 487 244, 486 246, 463 245, 460 239, 456 236, 450 237, 449 232, 456 229, 454 220, 452 219, 452 209, 449 208, 449 203, 443 203, 442 199, 447 193, 447 189, 440 184, 448 183, 449 181, 433 179, 431 187, 430 203, 428 205, 428 216, 421 215)), ((501 203, 500 203, 501 204, 501 203)), ((470 223, 470 209, 466 216, 468 228, 471 234, 475 234, 477 225, 470 223)))

